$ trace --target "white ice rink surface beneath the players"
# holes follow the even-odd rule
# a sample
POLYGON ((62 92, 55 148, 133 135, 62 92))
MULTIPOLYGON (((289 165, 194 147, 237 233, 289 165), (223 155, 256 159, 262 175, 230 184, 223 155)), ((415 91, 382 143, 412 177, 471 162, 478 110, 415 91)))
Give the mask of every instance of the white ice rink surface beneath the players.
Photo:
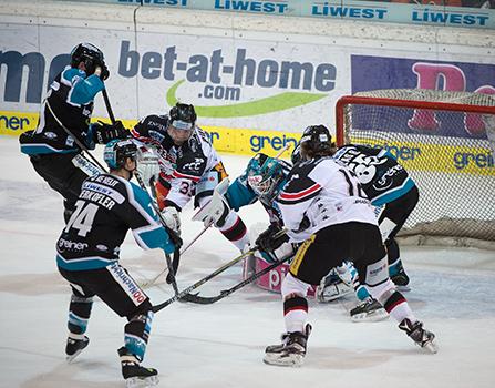
MULTIPOLYGON (((101 150, 97 151, 100 153, 101 150)), ((97 154, 96 153, 96 154, 97 154)), ((247 157, 224 155, 231 176, 247 157)), ((116 349, 125 319, 94 305, 90 346, 64 361, 70 288, 58 274, 54 242, 62 229, 62 201, 20 154, 17 139, 0 137, 0 387, 124 387, 116 349)), ((183 214, 187 243, 203 228, 183 214)), ((267 219, 255 204, 243 210, 248 225, 267 219)), ((209 274, 238 253, 215 229, 184 255, 179 288, 209 274)), ((406 294, 416 316, 437 336, 439 354, 424 354, 391 319, 352 324, 347 298, 310 302, 313 333, 300 369, 264 365, 267 345, 283 330, 278 295, 247 286, 214 305, 175 303, 155 315, 144 365, 161 372, 161 387, 489 387, 495 385, 495 254, 466 248, 403 247, 412 278, 406 294)), ((128 237, 122 264, 136 279, 165 266, 161 252, 141 251, 128 237)), ((237 283, 235 267, 207 283, 205 295, 237 283)), ((147 289, 154 303, 172 287, 147 289)))

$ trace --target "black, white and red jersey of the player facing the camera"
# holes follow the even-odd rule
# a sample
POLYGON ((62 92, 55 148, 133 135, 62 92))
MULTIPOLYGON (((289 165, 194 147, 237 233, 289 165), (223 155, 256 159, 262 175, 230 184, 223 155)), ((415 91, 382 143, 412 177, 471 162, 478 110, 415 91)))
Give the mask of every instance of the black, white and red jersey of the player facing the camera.
POLYGON ((148 115, 131 131, 133 136, 154 145, 159 155, 162 184, 169 186, 167 202, 183 208, 195 195, 196 185, 221 162, 208 134, 196 126, 192 136, 175 145, 167 133, 167 115, 148 115))

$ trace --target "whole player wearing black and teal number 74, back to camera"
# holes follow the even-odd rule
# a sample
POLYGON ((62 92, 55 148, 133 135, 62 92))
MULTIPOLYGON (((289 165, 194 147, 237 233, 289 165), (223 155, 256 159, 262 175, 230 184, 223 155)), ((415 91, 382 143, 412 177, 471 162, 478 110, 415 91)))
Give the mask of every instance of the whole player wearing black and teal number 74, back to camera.
POLYGON ((93 298, 100 297, 118 316, 126 317, 124 346, 118 349, 128 387, 154 385, 157 370, 140 365, 153 320, 152 304, 118 263, 128 229, 144 249, 173 253, 175 246, 158 222, 146 191, 130 182, 136 169, 137 146, 132 140, 113 140, 104 150, 110 174, 89 177, 82 185, 56 243, 59 272, 70 283, 66 358, 72 361, 89 344, 85 336, 93 298))

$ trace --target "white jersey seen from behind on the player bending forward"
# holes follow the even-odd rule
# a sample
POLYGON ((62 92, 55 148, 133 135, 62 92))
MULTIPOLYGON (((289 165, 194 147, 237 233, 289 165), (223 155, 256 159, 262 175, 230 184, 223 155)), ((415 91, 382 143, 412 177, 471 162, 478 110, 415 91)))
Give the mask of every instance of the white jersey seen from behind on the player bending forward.
POLYGON ((293 242, 334 224, 377 225, 373 206, 355 175, 330 157, 297 164, 277 198, 293 242))

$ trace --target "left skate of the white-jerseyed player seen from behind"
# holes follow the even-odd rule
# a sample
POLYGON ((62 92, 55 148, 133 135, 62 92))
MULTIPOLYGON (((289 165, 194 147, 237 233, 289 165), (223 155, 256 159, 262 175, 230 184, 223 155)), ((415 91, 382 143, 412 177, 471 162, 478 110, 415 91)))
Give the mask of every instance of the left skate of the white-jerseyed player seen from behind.
POLYGON ((305 333, 283 334, 280 345, 270 345, 266 348, 264 363, 282 367, 300 367, 303 364, 310 333, 311 325, 308 324, 305 327, 305 333))

